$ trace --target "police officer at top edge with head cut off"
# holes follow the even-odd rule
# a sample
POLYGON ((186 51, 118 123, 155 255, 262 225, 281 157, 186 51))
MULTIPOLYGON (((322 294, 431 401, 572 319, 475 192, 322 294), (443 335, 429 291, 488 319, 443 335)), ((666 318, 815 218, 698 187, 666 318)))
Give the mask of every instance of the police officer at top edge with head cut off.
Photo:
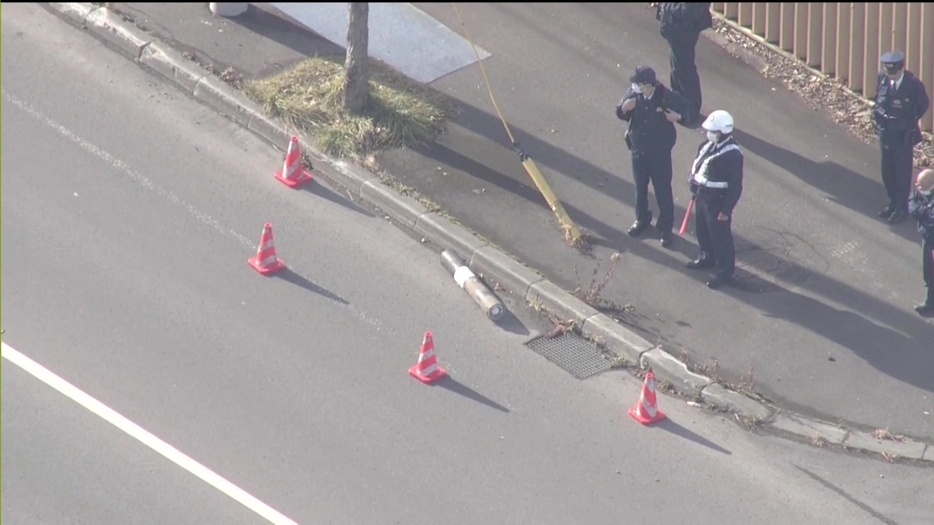
POLYGON ((671 59, 671 89, 701 108, 700 77, 695 65, 695 48, 700 34, 713 26, 709 2, 659 2, 655 18, 668 41, 671 59))

